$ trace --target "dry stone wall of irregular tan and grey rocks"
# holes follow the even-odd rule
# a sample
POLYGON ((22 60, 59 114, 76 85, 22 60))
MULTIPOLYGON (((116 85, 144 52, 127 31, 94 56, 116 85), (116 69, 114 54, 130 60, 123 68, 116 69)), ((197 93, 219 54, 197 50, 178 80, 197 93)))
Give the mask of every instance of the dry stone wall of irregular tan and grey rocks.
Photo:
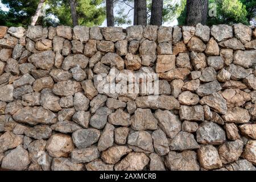
POLYGON ((1 167, 255 171, 255 65, 243 24, 2 26, 1 167))

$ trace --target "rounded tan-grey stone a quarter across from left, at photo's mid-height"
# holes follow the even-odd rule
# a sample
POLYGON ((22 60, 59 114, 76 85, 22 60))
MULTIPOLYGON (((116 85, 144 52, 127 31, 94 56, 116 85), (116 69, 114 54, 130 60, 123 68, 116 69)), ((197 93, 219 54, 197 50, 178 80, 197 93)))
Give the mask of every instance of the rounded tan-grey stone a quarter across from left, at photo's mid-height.
POLYGON ((71 80, 57 82, 52 92, 57 96, 72 96, 75 93, 74 83, 71 80))

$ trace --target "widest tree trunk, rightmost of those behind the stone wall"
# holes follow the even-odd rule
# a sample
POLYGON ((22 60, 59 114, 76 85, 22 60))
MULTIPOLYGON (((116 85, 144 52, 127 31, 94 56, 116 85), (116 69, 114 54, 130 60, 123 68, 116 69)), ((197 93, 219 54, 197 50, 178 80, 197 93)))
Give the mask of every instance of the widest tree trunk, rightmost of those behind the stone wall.
POLYGON ((186 24, 195 26, 197 23, 207 23, 208 1, 187 0, 186 24))

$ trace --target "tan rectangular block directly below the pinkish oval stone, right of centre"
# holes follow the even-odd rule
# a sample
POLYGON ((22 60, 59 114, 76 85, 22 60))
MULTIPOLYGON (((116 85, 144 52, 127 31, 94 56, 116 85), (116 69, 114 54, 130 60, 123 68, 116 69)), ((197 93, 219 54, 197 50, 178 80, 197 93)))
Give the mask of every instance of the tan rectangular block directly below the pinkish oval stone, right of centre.
POLYGON ((203 106, 185 106, 181 105, 180 110, 180 119, 187 121, 204 121, 204 110, 203 106))

